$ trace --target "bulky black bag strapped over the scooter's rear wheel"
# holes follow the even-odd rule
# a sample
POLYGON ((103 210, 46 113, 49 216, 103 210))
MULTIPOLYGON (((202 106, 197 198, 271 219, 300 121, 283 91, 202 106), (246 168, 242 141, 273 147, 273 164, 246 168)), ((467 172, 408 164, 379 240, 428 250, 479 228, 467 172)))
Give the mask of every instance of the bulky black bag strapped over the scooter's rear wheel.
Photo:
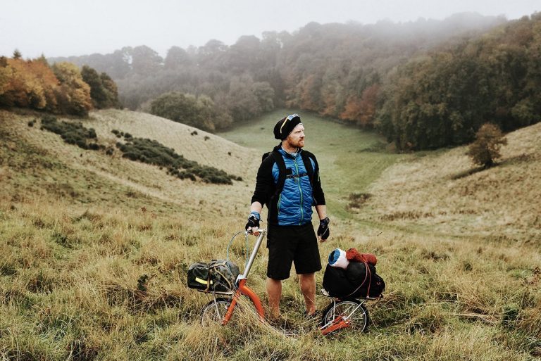
POLYGON ((327 265, 323 288, 337 298, 381 296, 385 281, 375 273, 375 267, 363 262, 349 262, 347 270, 327 265))

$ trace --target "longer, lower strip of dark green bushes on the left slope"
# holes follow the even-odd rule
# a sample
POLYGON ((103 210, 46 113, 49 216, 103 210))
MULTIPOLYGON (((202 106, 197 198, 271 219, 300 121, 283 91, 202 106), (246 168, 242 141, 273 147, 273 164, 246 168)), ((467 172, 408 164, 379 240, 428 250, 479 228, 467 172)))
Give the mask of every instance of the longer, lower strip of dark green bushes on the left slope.
POLYGON ((167 148, 158 141, 133 138, 128 133, 124 137, 125 144, 120 142, 116 144, 117 148, 123 153, 124 158, 167 167, 168 174, 180 179, 191 179, 192 181, 201 179, 203 182, 213 184, 232 184, 232 180, 242 180, 240 177, 228 175, 227 172, 215 167, 199 165, 193 160, 188 160, 184 156, 175 153, 173 148, 167 148))

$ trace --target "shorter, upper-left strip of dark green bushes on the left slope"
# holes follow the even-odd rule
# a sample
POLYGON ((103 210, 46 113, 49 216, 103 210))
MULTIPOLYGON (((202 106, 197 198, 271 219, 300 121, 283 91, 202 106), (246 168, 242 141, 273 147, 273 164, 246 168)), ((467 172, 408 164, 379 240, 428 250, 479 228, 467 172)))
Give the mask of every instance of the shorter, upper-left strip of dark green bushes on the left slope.
POLYGON ((61 136, 68 144, 75 144, 79 148, 97 151, 100 146, 96 143, 96 131, 85 128, 81 123, 58 122, 56 117, 45 115, 42 118, 41 129, 48 130, 61 136))

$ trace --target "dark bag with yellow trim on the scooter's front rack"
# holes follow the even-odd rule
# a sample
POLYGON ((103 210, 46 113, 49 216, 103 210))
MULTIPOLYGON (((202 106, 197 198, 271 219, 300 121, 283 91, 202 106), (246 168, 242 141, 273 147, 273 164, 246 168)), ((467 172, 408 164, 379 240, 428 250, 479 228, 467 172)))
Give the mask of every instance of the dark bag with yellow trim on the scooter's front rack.
POLYGON ((228 260, 198 262, 188 268, 187 286, 204 292, 230 293, 239 274, 239 267, 228 260))

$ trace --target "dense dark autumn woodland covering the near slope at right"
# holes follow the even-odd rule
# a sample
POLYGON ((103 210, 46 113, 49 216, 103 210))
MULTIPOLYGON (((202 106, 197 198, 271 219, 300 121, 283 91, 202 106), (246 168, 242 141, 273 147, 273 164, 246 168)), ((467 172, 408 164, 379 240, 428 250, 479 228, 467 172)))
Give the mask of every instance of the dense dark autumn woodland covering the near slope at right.
POLYGON ((541 120, 541 13, 400 66, 385 81, 375 127, 398 148, 471 141, 485 122, 504 132, 541 120))

